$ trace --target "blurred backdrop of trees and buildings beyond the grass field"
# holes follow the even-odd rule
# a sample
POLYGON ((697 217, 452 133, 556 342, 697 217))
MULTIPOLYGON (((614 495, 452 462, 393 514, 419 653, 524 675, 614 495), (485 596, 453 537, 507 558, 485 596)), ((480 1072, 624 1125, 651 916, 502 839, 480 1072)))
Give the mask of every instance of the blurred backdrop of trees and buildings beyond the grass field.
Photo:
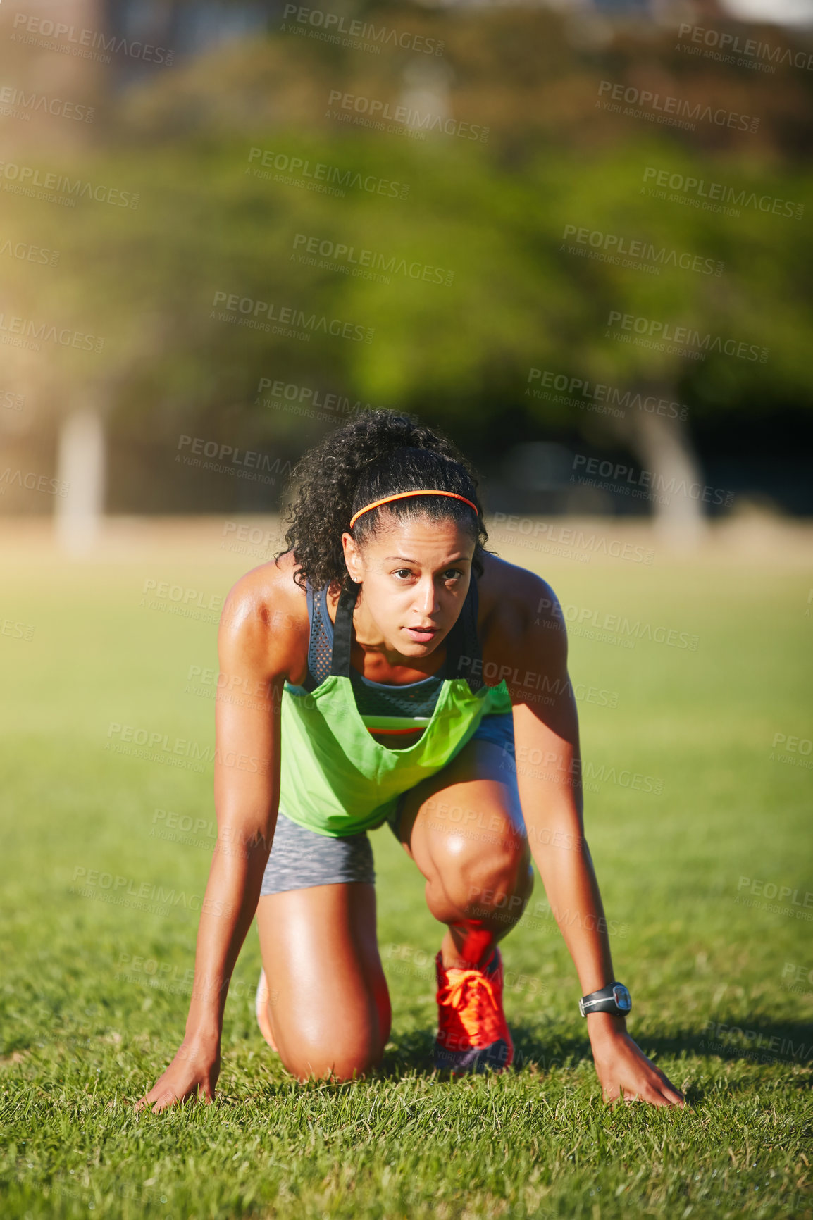
POLYGON ((809 515, 812 90, 808 0, 4 5, 0 514, 273 514, 389 406, 491 512, 809 515))

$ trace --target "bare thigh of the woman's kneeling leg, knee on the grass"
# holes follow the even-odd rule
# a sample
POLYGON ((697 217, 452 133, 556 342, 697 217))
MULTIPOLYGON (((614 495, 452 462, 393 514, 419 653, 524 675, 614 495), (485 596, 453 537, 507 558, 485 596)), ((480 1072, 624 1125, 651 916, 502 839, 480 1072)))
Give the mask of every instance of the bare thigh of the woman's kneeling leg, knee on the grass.
POLYGON ((273 1039, 300 1078, 361 1075, 389 1038, 375 886, 345 882, 265 894, 258 904, 273 1039))

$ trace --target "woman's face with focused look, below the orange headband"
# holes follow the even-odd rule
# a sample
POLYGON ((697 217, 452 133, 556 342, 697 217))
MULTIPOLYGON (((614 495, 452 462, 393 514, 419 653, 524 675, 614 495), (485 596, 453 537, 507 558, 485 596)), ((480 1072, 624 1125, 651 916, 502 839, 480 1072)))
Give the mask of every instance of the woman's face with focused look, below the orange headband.
POLYGON ((342 534, 348 572, 363 586, 356 638, 402 656, 427 656, 463 609, 475 540, 454 521, 391 520, 361 547, 342 534))

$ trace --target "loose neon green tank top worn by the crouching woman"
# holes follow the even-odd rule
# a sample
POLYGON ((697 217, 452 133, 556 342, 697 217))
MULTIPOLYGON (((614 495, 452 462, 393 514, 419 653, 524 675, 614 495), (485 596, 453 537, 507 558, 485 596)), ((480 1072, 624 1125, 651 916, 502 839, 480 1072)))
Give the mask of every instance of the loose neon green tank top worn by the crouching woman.
POLYGON ((481 660, 481 650, 472 577, 460 616, 447 637, 447 676, 432 715, 402 719, 404 727, 420 721, 424 731, 419 741, 397 749, 376 742, 370 730, 382 725, 376 723, 378 717, 361 716, 350 680, 358 592, 356 586, 339 597, 327 676, 311 691, 286 682, 282 693, 280 811, 299 826, 328 837, 381 826, 402 793, 450 762, 485 715, 511 710, 504 681, 488 687, 480 680, 455 676, 470 673, 472 667, 475 673, 481 672, 474 665, 481 660))

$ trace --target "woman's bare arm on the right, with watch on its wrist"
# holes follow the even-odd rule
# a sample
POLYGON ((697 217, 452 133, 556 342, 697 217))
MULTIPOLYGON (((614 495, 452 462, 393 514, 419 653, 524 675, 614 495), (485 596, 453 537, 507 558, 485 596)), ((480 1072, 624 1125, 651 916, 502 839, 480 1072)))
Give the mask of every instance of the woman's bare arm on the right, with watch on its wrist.
MULTIPOLYGON (((503 667, 514 710, 516 782, 531 854, 579 975, 582 996, 615 982, 607 920, 584 828, 579 719, 568 637, 551 587, 505 565, 503 598, 483 659, 503 667)), ((492 671, 493 672, 493 671, 492 671)), ((498 671, 499 672, 499 671, 498 671)), ((604 1097, 682 1105, 684 1096, 626 1032, 591 1013, 587 1032, 604 1097)))

